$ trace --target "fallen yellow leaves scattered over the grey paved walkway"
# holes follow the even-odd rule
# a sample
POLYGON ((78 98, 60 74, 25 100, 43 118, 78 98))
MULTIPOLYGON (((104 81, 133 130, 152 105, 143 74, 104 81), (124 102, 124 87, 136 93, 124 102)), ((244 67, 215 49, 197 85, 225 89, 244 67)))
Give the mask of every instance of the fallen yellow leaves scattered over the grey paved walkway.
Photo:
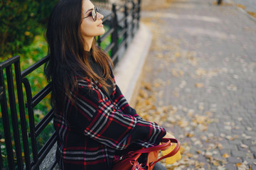
MULTIPOLYGON (((223 6, 230 5, 231 4, 223 4, 223 6)), ((174 79, 170 79, 170 77, 161 77, 161 79, 157 78, 152 81, 142 82, 142 87, 137 96, 137 113, 145 120, 156 122, 159 125, 164 126, 166 130, 176 130, 174 136, 181 142, 182 159, 172 165, 167 165, 167 169, 224 170, 225 165, 228 164, 228 158, 232 157, 232 155, 230 152, 225 153, 226 148, 224 147, 225 145, 223 145, 223 141, 236 142, 238 138, 251 140, 252 136, 248 134, 220 134, 220 136, 215 136, 215 133, 209 132, 209 129, 212 128, 210 127, 212 123, 222 121, 219 118, 214 117, 214 113, 218 111, 216 103, 194 101, 196 106, 195 111, 192 108, 186 108, 185 106, 166 104, 165 100, 166 95, 173 95, 176 98, 186 98, 186 96, 182 95, 183 91, 186 91, 189 94, 195 89, 197 91, 206 91, 206 93, 210 93, 212 87, 209 86, 208 80, 220 74, 232 73, 234 81, 241 79, 241 77, 228 67, 216 69, 200 67, 199 64, 201 61, 200 58, 197 57, 197 52, 184 51, 180 47, 181 40, 163 35, 164 31, 162 30, 164 28, 161 26, 164 26, 164 21, 161 20, 161 15, 158 11, 154 12, 154 14, 155 16, 153 17, 142 18, 142 22, 146 26, 149 26, 153 33, 152 45, 149 49, 149 53, 154 54, 152 55, 152 60, 159 63, 158 68, 155 70, 151 69, 149 74, 154 77, 154 74, 159 72, 168 72, 166 75, 171 76, 174 79, 179 79, 180 81, 174 82, 176 83, 176 88, 171 89, 169 94, 166 94, 166 89, 168 89, 168 85, 174 81, 174 79), (193 72, 191 72, 191 70, 188 71, 186 64, 194 68, 193 72), (190 84, 190 81, 183 79, 185 76, 196 79, 196 82, 190 84)), ((228 62, 228 58, 223 60, 228 62)), ((251 68, 254 67, 255 66, 252 66, 251 68)), ((245 66, 244 72, 249 72, 249 69, 249 67, 245 66)), ((223 96, 225 96, 225 93, 235 93, 235 91, 240 90, 235 82, 230 82, 230 84, 220 82, 220 84, 227 90, 223 92, 223 96)), ((234 106, 236 105, 237 103, 234 103, 234 106)), ((243 121, 245 121, 243 118, 238 118, 238 123, 242 123, 243 121)), ((223 129, 228 131, 239 130, 239 127, 231 121, 224 121, 223 129)), ((247 127, 247 130, 251 131, 252 128, 247 127)), ((248 148, 246 142, 240 143, 238 146, 239 145, 243 149, 248 148)), ((164 164, 164 162, 162 163, 164 164)), ((249 167, 247 162, 241 162, 238 165, 238 169, 241 170, 245 167, 248 169, 249 167)))

